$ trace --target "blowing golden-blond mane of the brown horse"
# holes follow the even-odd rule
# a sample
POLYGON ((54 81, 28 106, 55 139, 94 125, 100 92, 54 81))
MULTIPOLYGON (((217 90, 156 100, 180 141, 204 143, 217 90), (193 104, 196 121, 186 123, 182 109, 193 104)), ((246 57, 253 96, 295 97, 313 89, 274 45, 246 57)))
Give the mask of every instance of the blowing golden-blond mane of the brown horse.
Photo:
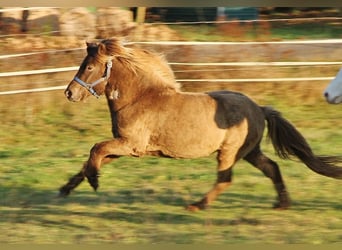
MULTIPOLYGON (((88 53, 89 53, 88 46, 88 53)), ((162 54, 157 54, 140 48, 127 48, 117 38, 102 40, 98 44, 97 58, 100 61, 113 57, 125 69, 136 76, 144 78, 149 86, 167 87, 179 90, 174 73, 162 54)))

